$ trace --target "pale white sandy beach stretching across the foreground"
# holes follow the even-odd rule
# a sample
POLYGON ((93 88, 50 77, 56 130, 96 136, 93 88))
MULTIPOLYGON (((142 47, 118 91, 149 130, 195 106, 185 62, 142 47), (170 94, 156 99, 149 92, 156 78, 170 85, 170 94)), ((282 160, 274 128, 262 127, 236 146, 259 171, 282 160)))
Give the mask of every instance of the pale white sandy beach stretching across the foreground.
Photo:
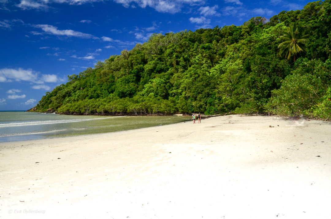
POLYGON ((240 115, 1 143, 0 217, 331 218, 330 146, 329 122, 240 115))

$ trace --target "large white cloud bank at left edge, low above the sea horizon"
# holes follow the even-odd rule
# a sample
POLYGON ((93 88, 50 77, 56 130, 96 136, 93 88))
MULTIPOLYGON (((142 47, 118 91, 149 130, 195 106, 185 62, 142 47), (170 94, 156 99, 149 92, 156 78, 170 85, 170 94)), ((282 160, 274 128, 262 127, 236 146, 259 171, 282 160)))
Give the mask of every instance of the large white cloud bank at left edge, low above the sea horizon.
MULTIPOLYGON (((13 69, 13 68, 2 68, 0 69, 0 82, 12 82, 15 81, 28 81, 36 84, 43 84, 44 82, 55 83, 61 81, 54 74, 43 74, 33 71, 32 69, 13 69)), ((13 89, 12 89, 13 90, 13 89)))

